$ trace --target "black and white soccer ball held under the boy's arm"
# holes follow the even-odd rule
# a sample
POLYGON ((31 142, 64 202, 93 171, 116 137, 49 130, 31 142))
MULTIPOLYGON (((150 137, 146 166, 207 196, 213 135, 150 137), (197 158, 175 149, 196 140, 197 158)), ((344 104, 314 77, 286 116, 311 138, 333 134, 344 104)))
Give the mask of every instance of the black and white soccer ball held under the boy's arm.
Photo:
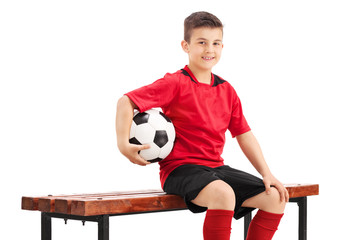
POLYGON ((164 113, 156 109, 134 113, 129 142, 150 145, 149 149, 139 152, 142 158, 151 163, 161 161, 170 154, 174 141, 174 125, 164 113))

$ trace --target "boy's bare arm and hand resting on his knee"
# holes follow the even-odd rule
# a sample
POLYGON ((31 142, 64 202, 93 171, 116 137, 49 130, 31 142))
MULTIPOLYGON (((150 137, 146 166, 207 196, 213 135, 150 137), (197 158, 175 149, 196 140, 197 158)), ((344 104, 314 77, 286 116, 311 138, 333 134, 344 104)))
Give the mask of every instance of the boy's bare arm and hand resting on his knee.
POLYGON ((281 201, 285 200, 288 202, 289 193, 283 184, 272 175, 254 134, 249 131, 236 136, 236 140, 245 156, 263 177, 266 192, 269 194, 270 186, 274 186, 280 193, 281 201))

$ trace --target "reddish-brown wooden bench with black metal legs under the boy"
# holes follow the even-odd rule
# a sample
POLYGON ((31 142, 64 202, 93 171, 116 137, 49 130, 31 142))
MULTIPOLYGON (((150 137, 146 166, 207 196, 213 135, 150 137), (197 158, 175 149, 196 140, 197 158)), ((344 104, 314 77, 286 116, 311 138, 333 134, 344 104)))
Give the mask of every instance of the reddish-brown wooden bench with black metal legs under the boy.
MULTIPOLYGON (((307 196, 318 195, 317 184, 287 184, 290 202, 299 206, 299 239, 306 240, 307 196)), ((22 209, 41 212, 41 239, 51 240, 51 218, 98 223, 98 239, 109 240, 109 217, 187 209, 184 200, 161 190, 22 197, 22 209)), ((251 221, 245 216, 244 238, 251 221)))

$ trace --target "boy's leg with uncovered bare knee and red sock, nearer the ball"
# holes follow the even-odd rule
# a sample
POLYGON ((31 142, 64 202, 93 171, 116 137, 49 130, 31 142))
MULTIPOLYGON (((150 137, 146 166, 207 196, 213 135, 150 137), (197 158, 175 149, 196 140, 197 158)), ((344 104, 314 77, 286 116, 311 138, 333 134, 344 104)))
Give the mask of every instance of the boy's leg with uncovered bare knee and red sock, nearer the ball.
POLYGON ((202 189, 192 202, 208 208, 204 221, 204 240, 229 240, 235 208, 233 189, 227 183, 215 180, 202 189))

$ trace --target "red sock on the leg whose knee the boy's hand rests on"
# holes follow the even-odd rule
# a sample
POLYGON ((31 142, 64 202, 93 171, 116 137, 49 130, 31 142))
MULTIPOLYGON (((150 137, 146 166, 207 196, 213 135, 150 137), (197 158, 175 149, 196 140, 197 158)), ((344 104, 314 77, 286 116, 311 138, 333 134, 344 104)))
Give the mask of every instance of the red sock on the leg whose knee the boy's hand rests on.
POLYGON ((283 215, 259 210, 250 223, 246 240, 272 239, 283 215))

